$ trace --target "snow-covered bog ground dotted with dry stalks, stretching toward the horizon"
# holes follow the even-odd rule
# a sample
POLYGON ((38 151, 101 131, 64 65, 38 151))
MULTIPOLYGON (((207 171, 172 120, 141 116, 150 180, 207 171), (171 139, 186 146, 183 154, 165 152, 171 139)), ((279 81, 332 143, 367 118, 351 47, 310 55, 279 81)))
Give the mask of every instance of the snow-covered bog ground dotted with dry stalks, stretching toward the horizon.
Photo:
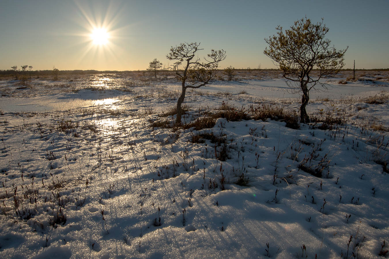
MULTIPOLYGON (((173 81, 0 80, 0 257, 383 258, 389 84, 340 80, 307 110, 343 125, 217 118, 198 130, 151 126, 174 120, 173 81)), ((297 110, 288 90, 218 81, 187 92, 184 120, 297 110)))

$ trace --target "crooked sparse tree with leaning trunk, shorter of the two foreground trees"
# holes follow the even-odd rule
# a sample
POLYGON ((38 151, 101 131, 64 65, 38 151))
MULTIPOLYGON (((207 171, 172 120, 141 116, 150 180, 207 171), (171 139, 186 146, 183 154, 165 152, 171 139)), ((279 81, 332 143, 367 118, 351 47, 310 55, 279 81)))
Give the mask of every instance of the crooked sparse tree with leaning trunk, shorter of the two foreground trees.
POLYGON ((175 46, 170 49, 170 52, 166 55, 169 60, 176 60, 176 62, 170 66, 170 69, 175 71, 177 78, 182 83, 181 96, 177 101, 177 119, 176 123, 181 123, 182 108, 181 104, 185 99, 185 92, 188 88, 200 88, 204 85, 210 84, 216 76, 216 71, 219 66, 219 62, 226 59, 226 52, 221 50, 211 50, 207 57, 203 58, 203 61, 195 56, 197 55, 200 43, 180 43, 179 46, 175 46), (181 67, 181 65, 183 67, 181 67), (182 68, 182 69, 180 69, 182 68))

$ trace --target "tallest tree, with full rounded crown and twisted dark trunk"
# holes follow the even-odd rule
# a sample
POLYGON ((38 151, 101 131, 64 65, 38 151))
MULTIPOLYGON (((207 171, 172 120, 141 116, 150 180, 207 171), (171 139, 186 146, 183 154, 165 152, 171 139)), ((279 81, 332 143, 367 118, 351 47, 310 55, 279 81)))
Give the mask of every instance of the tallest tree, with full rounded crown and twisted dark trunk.
POLYGON ((286 83, 293 92, 301 92, 300 122, 309 122, 305 107, 309 101, 309 91, 327 90, 328 81, 322 81, 338 73, 344 66, 344 50, 336 50, 331 40, 325 38, 328 28, 312 23, 307 17, 295 21, 290 29, 283 31, 277 26, 277 35, 265 38, 268 47, 263 53, 278 63, 286 83), (312 70, 317 70, 314 75, 312 70))

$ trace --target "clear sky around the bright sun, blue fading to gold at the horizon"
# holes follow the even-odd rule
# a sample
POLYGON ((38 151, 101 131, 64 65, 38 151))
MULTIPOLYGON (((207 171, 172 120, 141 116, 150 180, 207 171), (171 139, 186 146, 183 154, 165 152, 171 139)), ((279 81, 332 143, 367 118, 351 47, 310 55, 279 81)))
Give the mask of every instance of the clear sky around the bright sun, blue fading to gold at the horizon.
MULTIPOLYGON (((0 69, 144 70, 180 42, 224 49, 222 67, 275 68, 263 55, 265 37, 304 16, 324 18, 337 49, 349 46, 346 66, 389 68, 388 0, 2 0, 0 69), (94 45, 93 26, 104 26, 106 45, 94 45)), ((171 61, 170 61, 171 63, 171 61)))

